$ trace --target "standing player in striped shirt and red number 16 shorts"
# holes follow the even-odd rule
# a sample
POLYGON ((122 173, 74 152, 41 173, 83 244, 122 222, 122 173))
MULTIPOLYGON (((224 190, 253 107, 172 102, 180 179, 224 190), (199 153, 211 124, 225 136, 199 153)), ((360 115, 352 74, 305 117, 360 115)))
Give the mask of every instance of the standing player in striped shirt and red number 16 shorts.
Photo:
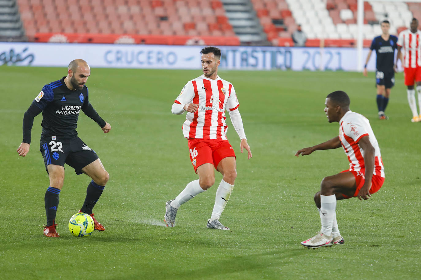
POLYGON ((203 75, 183 87, 171 108, 171 112, 176 115, 187 111, 183 134, 188 139, 190 160, 199 180, 188 183, 175 199, 167 201, 164 219, 167 226, 173 227, 180 205, 213 186, 213 168, 216 168, 223 178, 216 190, 215 205, 206 226, 229 230, 219 222, 219 217, 234 188, 237 166, 234 149, 226 139, 225 110, 229 112, 232 125, 240 136, 240 152, 246 149, 248 159, 252 154, 238 111, 240 105, 234 86, 218 76, 221 50, 205 47, 200 53, 203 75))

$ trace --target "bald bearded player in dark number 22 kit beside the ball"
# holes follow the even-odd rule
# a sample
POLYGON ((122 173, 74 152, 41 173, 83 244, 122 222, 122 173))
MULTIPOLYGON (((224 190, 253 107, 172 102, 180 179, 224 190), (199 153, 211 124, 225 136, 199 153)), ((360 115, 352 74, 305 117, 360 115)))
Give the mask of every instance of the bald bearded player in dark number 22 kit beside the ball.
POLYGON ((59 237, 55 219, 64 181, 64 163, 73 167, 76 174, 85 173, 92 178, 86 189, 85 202, 79 212, 91 215, 96 230, 105 230, 104 226, 93 217, 92 209, 104 190, 109 174, 95 151, 77 137, 76 131, 80 110, 95 120, 104 133, 111 130, 109 123, 104 121, 89 103, 88 88, 85 83, 90 75, 91 68, 86 61, 73 60, 69 64, 67 76, 46 84, 24 114, 23 141, 17 149, 19 156, 22 157, 29 152, 34 117, 43 112, 40 151, 50 179, 50 186, 45 191, 44 197, 47 215, 44 235, 48 237, 59 237))

